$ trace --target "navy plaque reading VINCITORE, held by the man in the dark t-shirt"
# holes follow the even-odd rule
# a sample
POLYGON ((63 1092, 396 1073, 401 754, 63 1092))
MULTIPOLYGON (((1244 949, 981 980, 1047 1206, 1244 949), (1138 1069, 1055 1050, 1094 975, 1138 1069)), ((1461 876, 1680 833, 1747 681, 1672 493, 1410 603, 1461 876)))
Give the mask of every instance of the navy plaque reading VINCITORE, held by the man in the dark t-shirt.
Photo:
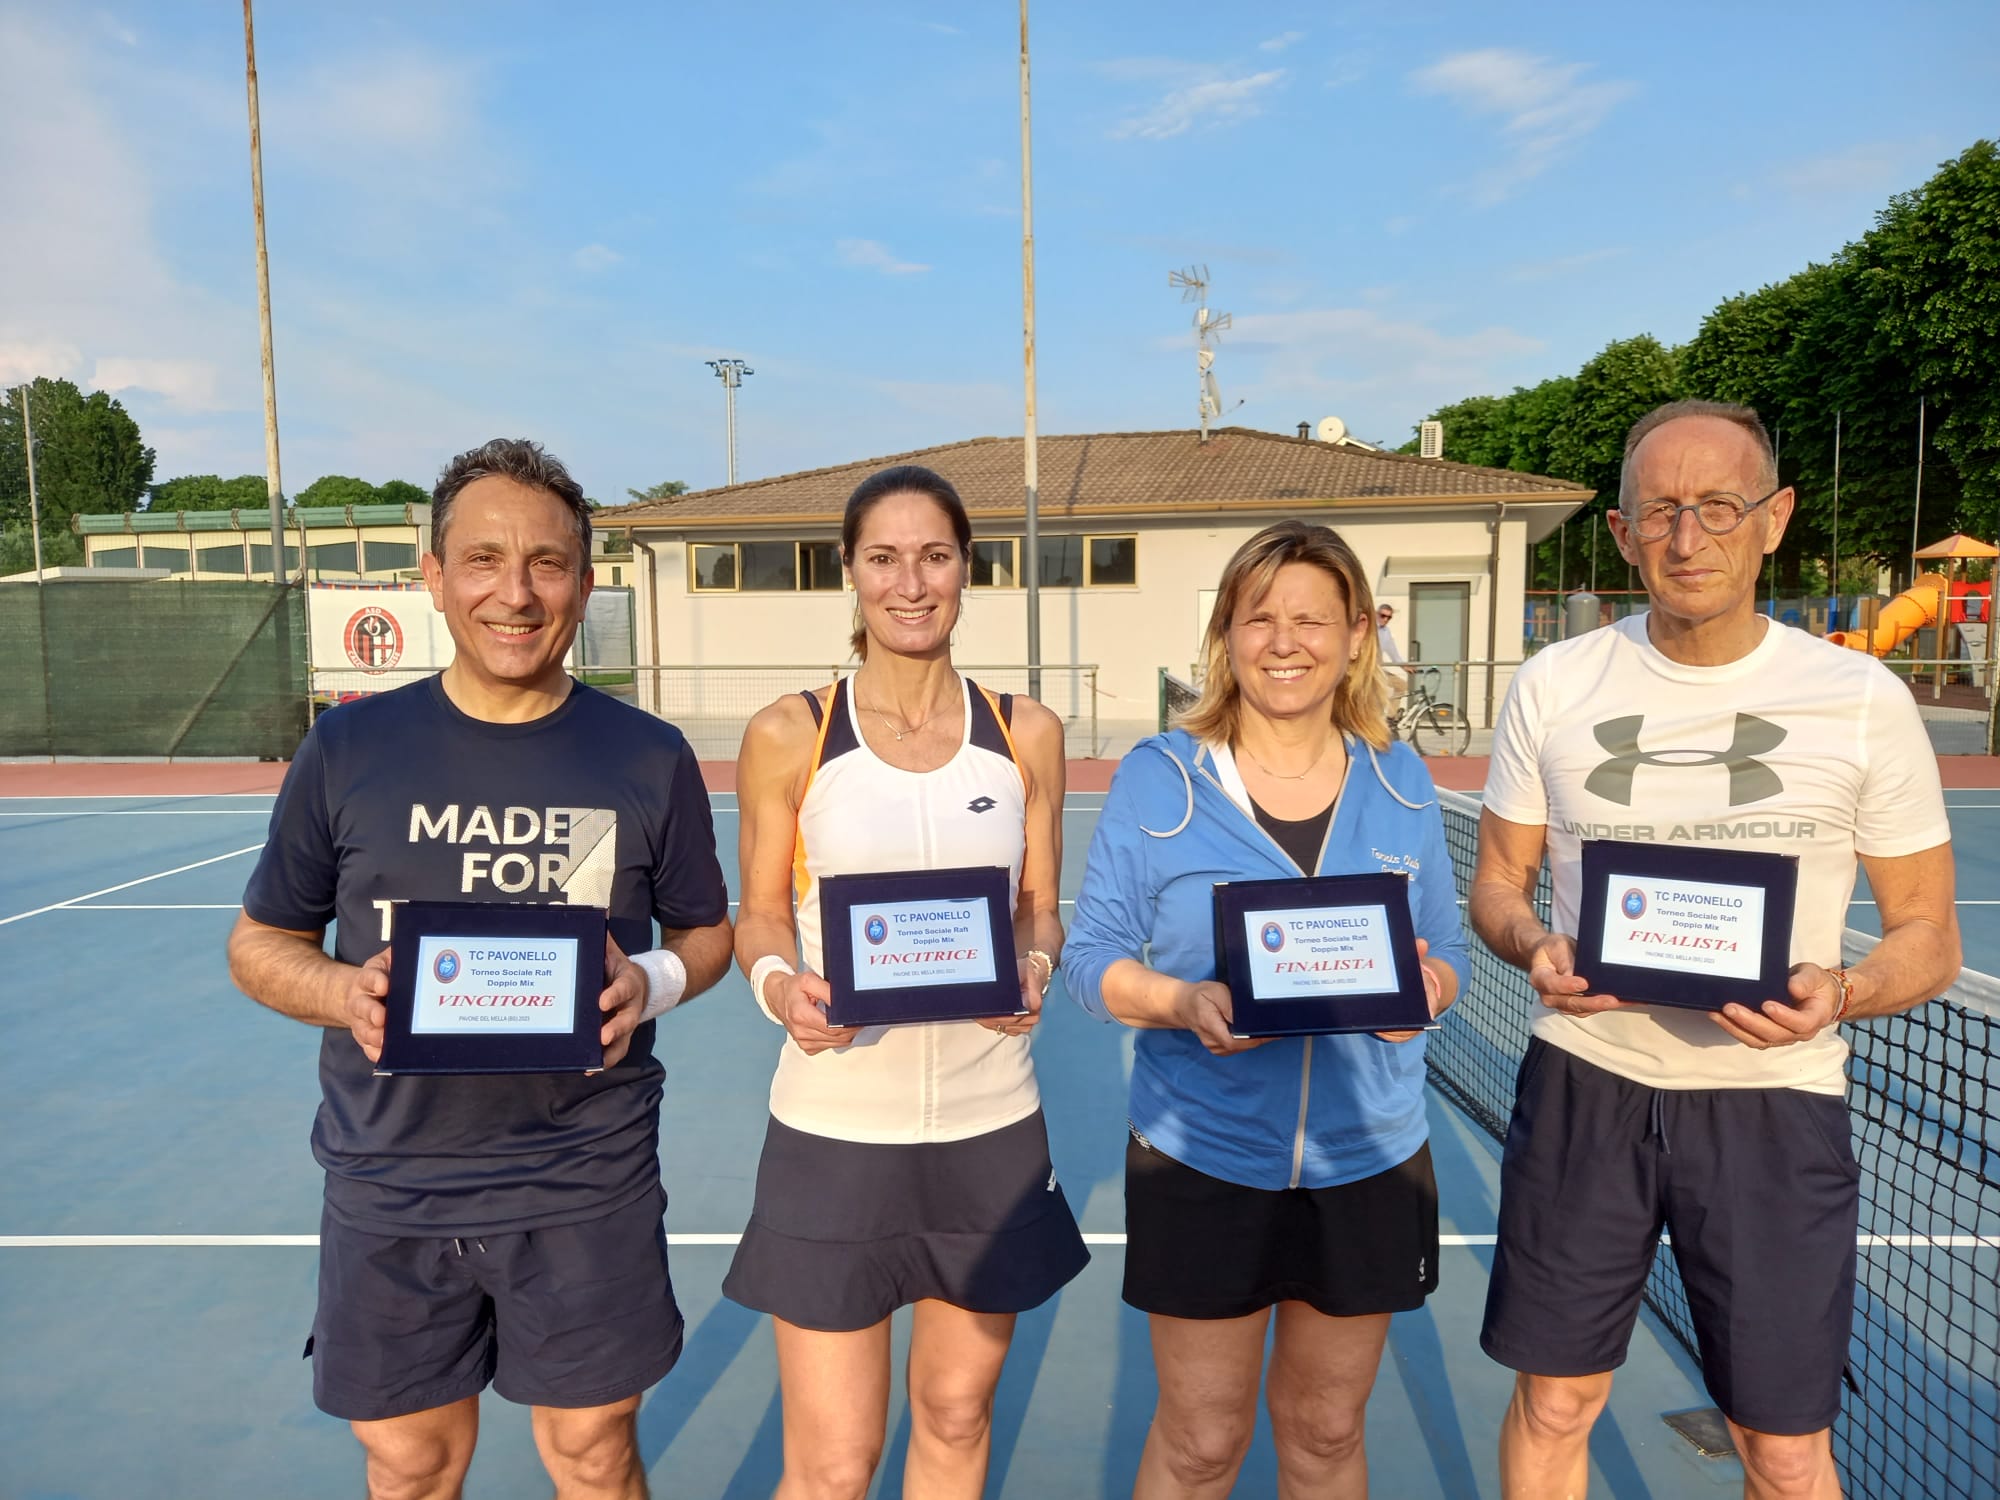
POLYGON ((598 1072, 604 910, 402 902, 378 1074, 598 1072))

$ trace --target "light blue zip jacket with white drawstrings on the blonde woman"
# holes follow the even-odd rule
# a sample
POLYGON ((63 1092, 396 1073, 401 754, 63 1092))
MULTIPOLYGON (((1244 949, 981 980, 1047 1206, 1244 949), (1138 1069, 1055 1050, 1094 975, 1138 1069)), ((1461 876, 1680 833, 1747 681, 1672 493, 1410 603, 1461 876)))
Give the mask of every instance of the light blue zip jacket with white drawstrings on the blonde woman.
MULTIPOLYGON (((1466 940, 1430 772, 1406 744, 1376 754, 1348 738, 1348 776, 1318 874, 1406 872, 1430 956, 1466 976, 1466 940)), ((1120 958, 1184 980, 1216 978, 1212 888, 1298 876, 1230 800, 1210 752, 1186 730, 1142 740, 1098 816, 1062 946, 1068 990, 1104 1010, 1120 958)), ((1424 1122, 1424 1038, 1286 1036, 1226 1058, 1194 1032, 1140 1030, 1132 1128, 1154 1148, 1250 1188, 1330 1188, 1408 1160, 1424 1122)))

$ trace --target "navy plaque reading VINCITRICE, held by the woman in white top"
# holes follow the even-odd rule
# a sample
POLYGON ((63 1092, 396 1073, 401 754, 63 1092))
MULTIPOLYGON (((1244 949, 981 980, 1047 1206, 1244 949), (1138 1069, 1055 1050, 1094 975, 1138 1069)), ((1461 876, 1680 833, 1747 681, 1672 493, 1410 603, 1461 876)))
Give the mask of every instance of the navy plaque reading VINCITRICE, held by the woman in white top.
POLYGON ((832 1026, 1018 1016, 1014 904, 996 864, 820 880, 832 1026))

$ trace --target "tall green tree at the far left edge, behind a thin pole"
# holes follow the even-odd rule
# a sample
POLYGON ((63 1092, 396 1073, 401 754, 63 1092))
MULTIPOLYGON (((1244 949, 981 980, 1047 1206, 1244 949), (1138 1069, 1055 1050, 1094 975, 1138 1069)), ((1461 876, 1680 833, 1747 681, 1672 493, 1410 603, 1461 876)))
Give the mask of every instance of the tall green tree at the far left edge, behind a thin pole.
MULTIPOLYGON (((20 386, 0 398, 0 532, 28 536, 28 452, 22 442, 20 386)), ((88 396, 68 380, 28 382, 34 428, 34 486, 42 506, 42 556, 54 566, 82 558, 70 516, 134 510, 152 482, 154 454, 138 422, 102 390, 88 396)), ((8 542, 8 556, 14 544, 8 542)), ((32 546, 30 562, 32 564, 32 546)))

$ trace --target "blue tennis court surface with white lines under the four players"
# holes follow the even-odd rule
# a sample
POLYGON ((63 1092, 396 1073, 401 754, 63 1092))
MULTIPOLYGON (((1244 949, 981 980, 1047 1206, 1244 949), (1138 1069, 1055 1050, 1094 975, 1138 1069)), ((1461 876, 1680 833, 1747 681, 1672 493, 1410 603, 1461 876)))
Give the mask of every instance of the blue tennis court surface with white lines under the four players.
MULTIPOLYGON (((1966 958, 1994 972, 2000 792, 1948 798, 1966 958)), ((1100 802, 1070 800, 1070 892, 1100 802)), ((222 962, 268 810, 268 796, 0 800, 0 1494, 308 1500, 360 1488, 360 1450, 312 1408, 300 1358, 320 1204, 316 1040, 240 996, 222 962)), ((716 832, 728 868, 732 796, 716 798, 716 832)), ((1866 900, 1850 924, 1874 930, 1866 900)), ((750 1210, 776 1048, 734 974, 660 1026, 668 1232, 688 1316, 686 1354, 640 1412, 660 1496, 766 1496, 778 1478, 770 1332, 718 1292, 750 1210)), ((1094 1260, 1020 1320, 992 1496, 1130 1492, 1154 1388, 1144 1318, 1118 1300, 1128 1058, 1128 1034, 1086 1018, 1058 982, 1036 1062, 1094 1260)), ((1370 1406, 1372 1482, 1412 1500, 1496 1496, 1512 1376, 1476 1334, 1498 1148, 1434 1096, 1432 1150, 1442 1290, 1394 1322, 1370 1406)), ((2000 1236, 2000 1224, 1974 1228, 2000 1236)), ((1660 1422, 1706 1404, 1648 1314, 1592 1440, 1592 1492, 1736 1494, 1732 1460, 1700 1458, 1660 1422)), ((468 1492, 546 1494, 526 1412, 488 1396, 482 1422, 468 1492)), ((878 1494, 900 1488, 904 1436, 892 1406, 878 1494)), ((1238 1494, 1274 1488, 1260 1434, 1238 1494)))

